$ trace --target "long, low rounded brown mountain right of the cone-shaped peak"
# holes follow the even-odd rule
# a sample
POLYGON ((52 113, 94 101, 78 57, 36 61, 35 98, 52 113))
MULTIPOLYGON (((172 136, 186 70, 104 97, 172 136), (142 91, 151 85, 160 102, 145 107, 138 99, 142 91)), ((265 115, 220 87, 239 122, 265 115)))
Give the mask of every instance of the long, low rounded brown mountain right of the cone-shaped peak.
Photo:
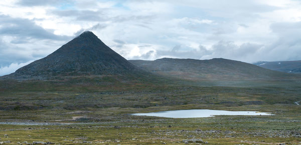
POLYGON ((265 69, 254 64, 224 58, 210 60, 161 58, 129 60, 144 70, 190 80, 281 79, 295 75, 265 69))

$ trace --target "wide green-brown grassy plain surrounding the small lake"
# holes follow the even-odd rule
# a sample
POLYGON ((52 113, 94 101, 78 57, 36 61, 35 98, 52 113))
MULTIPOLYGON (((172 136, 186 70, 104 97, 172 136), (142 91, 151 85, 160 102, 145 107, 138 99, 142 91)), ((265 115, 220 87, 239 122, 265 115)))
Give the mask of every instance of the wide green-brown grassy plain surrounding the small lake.
POLYGON ((301 105, 294 104, 301 100, 300 80, 121 82, 118 77, 97 77, 1 80, 0 84, 0 141, 14 144, 184 144, 183 139, 192 138, 208 144, 301 142, 301 105), (175 109, 254 110, 275 115, 130 115, 175 109))

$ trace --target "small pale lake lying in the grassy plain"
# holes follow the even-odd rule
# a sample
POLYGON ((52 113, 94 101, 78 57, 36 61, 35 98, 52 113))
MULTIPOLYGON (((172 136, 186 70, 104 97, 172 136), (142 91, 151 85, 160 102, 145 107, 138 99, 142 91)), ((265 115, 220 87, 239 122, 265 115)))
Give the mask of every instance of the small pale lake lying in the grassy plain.
POLYGON ((195 118, 195 117, 212 117, 215 115, 272 115, 268 112, 257 111, 227 111, 227 110, 211 110, 211 109, 189 109, 189 110, 171 110, 149 113, 134 113, 131 115, 138 116, 158 116, 169 118, 195 118))

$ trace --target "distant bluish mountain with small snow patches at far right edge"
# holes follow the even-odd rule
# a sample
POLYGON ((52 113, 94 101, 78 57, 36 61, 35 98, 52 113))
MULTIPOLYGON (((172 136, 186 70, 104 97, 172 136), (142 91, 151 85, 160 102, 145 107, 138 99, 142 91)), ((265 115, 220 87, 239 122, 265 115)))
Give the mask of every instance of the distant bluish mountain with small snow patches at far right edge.
POLYGON ((301 73, 301 60, 296 61, 259 61, 255 65, 263 68, 288 72, 288 73, 301 73))

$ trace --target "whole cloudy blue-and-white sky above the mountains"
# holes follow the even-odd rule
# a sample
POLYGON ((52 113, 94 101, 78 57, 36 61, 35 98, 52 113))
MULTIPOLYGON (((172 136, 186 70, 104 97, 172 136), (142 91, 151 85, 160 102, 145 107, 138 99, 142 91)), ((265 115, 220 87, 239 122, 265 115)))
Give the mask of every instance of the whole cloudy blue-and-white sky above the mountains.
POLYGON ((126 59, 301 59, 301 0, 0 0, 0 76, 90 30, 126 59))

